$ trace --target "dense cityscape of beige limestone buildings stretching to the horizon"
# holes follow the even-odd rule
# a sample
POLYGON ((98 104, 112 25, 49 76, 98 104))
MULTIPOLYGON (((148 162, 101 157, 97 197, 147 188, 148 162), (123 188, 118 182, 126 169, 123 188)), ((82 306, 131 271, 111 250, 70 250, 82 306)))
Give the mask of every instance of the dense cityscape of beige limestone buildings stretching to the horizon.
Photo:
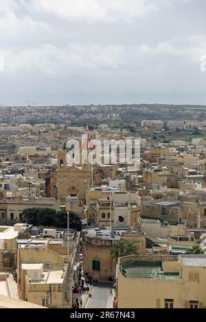
POLYGON ((1 306, 203 308, 205 115, 2 106, 1 306), (139 167, 120 149, 116 163, 69 164, 71 139, 88 155, 96 140, 139 140, 139 167))

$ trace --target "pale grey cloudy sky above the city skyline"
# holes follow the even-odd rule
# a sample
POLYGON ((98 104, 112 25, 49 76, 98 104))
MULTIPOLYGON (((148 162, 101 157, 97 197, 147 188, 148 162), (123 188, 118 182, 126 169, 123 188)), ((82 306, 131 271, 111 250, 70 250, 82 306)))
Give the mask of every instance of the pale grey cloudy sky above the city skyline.
POLYGON ((206 105, 205 12, 205 0, 0 0, 0 104, 206 105))

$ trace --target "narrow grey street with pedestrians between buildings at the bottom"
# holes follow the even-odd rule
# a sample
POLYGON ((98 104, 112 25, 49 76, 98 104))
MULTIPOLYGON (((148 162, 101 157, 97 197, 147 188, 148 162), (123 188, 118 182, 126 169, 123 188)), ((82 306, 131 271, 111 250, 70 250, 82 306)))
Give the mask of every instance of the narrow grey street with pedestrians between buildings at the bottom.
POLYGON ((109 286, 94 286, 85 308, 112 308, 113 296, 109 295, 109 291, 109 286))

